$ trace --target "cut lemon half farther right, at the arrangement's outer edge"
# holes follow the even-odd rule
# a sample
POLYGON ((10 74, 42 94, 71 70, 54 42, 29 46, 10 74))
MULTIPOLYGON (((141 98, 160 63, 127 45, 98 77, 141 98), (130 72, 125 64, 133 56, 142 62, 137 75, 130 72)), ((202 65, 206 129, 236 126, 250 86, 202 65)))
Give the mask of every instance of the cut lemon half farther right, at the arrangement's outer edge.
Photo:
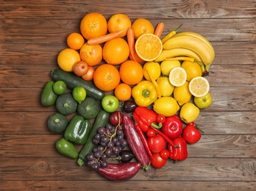
POLYGON ((210 84, 207 79, 202 76, 197 76, 191 79, 188 85, 191 94, 195 97, 205 96, 210 90, 210 84))

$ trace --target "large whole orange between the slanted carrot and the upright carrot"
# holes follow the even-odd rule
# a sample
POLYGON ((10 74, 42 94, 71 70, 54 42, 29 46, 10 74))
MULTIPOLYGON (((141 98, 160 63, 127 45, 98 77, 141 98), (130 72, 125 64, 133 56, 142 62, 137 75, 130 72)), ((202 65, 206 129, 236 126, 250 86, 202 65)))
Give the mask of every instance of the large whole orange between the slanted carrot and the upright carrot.
POLYGON ((120 65, 129 57, 129 46, 126 40, 117 37, 104 43, 103 59, 111 65, 120 65))

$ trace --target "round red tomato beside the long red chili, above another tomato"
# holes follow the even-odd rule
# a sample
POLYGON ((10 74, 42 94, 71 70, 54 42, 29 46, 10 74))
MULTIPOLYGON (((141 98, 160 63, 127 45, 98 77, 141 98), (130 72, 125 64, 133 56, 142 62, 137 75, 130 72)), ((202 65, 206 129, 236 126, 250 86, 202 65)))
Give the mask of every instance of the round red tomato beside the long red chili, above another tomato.
POLYGON ((149 137, 147 142, 152 153, 159 153, 166 148, 166 140, 160 134, 157 134, 154 137, 149 137))

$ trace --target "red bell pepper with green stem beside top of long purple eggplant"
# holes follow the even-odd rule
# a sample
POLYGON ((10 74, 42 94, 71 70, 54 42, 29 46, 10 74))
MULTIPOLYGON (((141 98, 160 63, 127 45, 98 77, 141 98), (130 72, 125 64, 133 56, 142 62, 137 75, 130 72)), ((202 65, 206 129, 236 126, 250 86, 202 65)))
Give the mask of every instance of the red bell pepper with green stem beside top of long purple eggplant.
POLYGON ((143 132, 149 130, 149 126, 153 126, 157 129, 160 129, 160 126, 162 126, 161 123, 158 125, 155 123, 157 122, 157 113, 146 107, 136 107, 132 115, 143 132))

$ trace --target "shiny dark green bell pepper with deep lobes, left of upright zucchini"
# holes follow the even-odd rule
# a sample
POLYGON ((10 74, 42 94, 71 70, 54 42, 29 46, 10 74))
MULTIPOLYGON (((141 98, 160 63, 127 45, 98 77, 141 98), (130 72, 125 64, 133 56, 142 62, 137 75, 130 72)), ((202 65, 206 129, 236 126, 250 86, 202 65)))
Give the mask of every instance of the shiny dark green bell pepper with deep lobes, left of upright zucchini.
POLYGON ((65 129, 64 137, 66 140, 77 144, 85 144, 90 134, 90 120, 85 120, 80 115, 75 115, 65 129))

